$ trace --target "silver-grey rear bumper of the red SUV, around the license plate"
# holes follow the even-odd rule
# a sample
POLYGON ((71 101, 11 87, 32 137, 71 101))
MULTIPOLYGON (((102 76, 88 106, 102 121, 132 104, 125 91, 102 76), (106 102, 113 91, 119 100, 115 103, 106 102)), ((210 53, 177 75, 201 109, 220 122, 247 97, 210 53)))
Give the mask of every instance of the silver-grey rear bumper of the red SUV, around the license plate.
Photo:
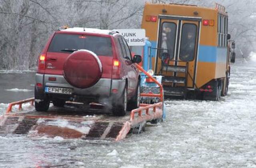
MULTIPOLYGON (((109 79, 109 78, 101 78, 94 86, 86 89, 75 88, 71 86, 64 76, 62 75, 51 75, 51 74, 36 74, 36 84, 41 83, 42 87, 36 86, 35 88, 35 98, 43 99, 44 96, 50 95, 53 97, 64 98, 66 100, 73 98, 81 98, 81 99, 103 99, 110 98, 111 96, 120 97, 122 91, 125 87, 125 80, 122 79, 109 79), (50 81, 49 77, 55 77, 56 81, 50 81), (55 93, 47 93, 44 91, 46 86, 52 87, 61 87, 61 88, 72 88, 72 95, 64 95, 64 94, 55 94, 55 93), (115 90, 115 93, 112 93, 112 90, 115 90), (116 90, 118 92, 116 92, 116 90)), ((95 100, 94 100, 95 101, 95 100)))

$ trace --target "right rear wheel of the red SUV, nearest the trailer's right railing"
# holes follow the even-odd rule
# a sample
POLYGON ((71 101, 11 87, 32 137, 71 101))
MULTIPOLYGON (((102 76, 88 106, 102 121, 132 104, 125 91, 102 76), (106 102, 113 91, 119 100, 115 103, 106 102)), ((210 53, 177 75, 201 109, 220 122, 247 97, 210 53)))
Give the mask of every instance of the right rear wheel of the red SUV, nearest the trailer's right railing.
POLYGON ((127 110, 127 86, 125 86, 122 96, 119 100, 114 100, 112 113, 116 116, 124 116, 127 110))

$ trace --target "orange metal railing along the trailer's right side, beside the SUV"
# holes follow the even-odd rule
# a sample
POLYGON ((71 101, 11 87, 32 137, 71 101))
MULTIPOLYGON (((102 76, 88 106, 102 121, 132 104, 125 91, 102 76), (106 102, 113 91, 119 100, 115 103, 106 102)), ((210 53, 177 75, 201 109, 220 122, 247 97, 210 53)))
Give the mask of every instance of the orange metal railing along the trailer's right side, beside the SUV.
MULTIPOLYGON (((157 104, 140 104, 141 107, 134 109, 130 113, 130 121, 134 119, 135 113, 138 113, 139 117, 142 117, 142 111, 146 111, 146 115, 149 114, 149 109, 153 108, 153 112, 156 112, 156 107, 160 107, 162 109, 163 107, 163 98, 164 98, 164 89, 162 84, 160 84, 155 78, 153 78, 146 70, 144 70, 140 65, 136 64, 137 68, 142 71, 148 78, 150 78, 152 81, 154 81, 159 87, 160 87, 160 94, 140 94, 140 96, 150 96, 150 97, 158 97, 160 98, 160 102, 157 104)), ((162 109, 163 110, 163 109, 162 109)))

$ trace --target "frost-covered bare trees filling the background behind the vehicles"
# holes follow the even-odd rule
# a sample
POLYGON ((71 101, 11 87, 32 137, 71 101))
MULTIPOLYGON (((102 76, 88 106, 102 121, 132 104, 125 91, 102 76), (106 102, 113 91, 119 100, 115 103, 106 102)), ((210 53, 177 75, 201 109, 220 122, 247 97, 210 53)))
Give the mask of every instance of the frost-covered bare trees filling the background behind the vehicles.
MULTIPOLYGON (((0 0, 0 69, 31 69, 58 27, 140 28, 152 0, 0 0)), ((214 0, 162 0, 214 7, 214 0)), ((244 55, 256 51, 254 0, 217 0, 229 14, 229 32, 244 55)))

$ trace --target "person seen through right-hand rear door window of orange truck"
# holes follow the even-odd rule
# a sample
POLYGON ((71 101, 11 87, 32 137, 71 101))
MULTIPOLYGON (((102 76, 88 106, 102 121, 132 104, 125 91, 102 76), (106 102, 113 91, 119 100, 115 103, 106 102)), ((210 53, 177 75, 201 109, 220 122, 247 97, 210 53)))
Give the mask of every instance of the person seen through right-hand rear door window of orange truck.
POLYGON ((187 36, 182 40, 182 47, 180 49, 180 59, 182 61, 190 61, 194 58, 195 48, 195 35, 191 31, 188 31, 187 36))

